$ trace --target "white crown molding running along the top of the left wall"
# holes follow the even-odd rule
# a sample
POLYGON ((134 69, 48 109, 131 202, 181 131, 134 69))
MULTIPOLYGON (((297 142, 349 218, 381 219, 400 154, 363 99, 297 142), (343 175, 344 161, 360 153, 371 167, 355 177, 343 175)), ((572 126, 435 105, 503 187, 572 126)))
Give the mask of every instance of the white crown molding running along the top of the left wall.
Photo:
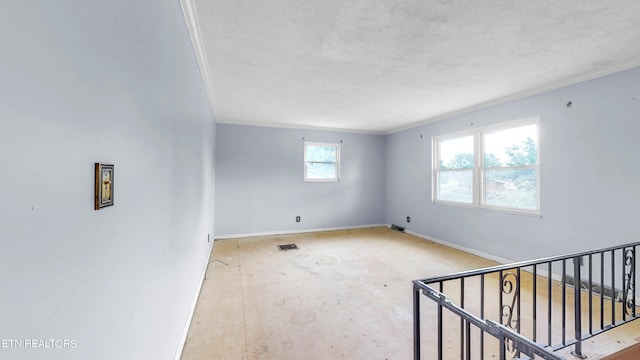
POLYGON ((184 19, 187 23, 187 29, 189 30, 189 37, 191 38, 193 51, 196 55, 198 66, 200 67, 200 75, 202 76, 205 91, 209 97, 211 111, 213 112, 215 120, 217 120, 218 116, 216 115, 213 83, 211 80, 211 72, 209 71, 207 52, 205 51, 204 43, 202 42, 202 36, 200 36, 200 25, 198 23, 196 6, 193 1, 194 0, 180 0, 180 7, 182 8, 182 14, 184 15, 184 19))

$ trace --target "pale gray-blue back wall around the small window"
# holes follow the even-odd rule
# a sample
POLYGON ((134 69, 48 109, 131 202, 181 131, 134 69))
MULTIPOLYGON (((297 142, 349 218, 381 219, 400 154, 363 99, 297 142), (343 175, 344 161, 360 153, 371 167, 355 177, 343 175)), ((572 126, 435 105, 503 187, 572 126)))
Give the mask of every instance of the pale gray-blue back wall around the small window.
POLYGON ((384 172, 380 135, 218 124, 216 236, 382 224, 384 172), (343 141, 340 182, 303 182, 302 138, 343 141))

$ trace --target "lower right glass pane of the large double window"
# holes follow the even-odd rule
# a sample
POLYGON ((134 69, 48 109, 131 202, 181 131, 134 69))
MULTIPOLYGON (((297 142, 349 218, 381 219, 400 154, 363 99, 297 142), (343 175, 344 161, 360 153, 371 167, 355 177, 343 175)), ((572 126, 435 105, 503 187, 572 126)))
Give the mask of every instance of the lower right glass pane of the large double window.
POLYGON ((484 203, 537 210, 536 183, 536 169, 487 170, 484 173, 484 203))

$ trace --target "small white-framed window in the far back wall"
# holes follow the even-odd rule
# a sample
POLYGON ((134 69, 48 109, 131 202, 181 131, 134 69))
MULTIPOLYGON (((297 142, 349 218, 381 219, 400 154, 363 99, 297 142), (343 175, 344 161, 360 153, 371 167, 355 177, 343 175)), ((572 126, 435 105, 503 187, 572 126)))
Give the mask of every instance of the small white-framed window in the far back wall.
POLYGON ((337 182, 340 179, 340 144, 304 143, 304 181, 337 182))

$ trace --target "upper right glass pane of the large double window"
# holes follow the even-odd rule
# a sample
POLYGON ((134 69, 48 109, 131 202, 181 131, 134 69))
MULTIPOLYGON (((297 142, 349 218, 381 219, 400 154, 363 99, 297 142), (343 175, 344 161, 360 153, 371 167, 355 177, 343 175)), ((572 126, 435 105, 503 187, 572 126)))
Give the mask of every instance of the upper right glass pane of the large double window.
POLYGON ((484 167, 527 166, 538 163, 536 124, 484 134, 484 167))

